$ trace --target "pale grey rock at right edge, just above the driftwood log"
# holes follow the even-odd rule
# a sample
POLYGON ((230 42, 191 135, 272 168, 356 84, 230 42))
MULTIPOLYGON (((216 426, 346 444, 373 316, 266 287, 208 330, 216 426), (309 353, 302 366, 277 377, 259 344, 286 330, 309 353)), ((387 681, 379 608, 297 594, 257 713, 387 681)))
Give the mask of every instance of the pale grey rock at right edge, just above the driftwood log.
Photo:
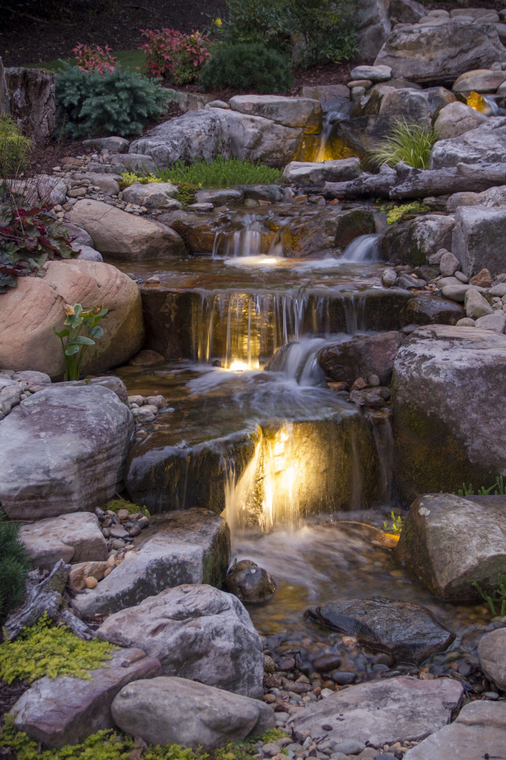
POLYGON ((448 140, 438 140, 430 154, 430 169, 457 163, 501 163, 506 157, 506 119, 491 116, 482 125, 448 140))

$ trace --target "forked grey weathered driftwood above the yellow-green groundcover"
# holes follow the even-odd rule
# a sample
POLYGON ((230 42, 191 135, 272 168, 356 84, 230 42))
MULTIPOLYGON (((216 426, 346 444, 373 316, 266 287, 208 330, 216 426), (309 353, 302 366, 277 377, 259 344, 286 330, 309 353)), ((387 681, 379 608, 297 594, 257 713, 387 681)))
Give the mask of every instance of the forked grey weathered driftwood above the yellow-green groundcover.
POLYGON ((5 621, 5 638, 12 641, 25 626, 35 625, 44 613, 55 623, 67 625, 79 638, 92 638, 88 626, 73 615, 64 603, 63 593, 70 571, 71 565, 60 559, 42 581, 38 570, 28 573, 24 600, 5 621))

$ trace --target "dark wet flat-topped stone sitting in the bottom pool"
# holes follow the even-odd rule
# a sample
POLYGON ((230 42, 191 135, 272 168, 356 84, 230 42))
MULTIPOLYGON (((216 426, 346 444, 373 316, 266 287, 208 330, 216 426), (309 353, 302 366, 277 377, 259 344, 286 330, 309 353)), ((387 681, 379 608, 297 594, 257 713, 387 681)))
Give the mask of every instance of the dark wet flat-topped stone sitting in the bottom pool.
POLYGON ((445 651, 455 638, 426 607, 384 597, 330 602, 310 608, 309 614, 323 625, 409 663, 420 664, 430 654, 445 651))

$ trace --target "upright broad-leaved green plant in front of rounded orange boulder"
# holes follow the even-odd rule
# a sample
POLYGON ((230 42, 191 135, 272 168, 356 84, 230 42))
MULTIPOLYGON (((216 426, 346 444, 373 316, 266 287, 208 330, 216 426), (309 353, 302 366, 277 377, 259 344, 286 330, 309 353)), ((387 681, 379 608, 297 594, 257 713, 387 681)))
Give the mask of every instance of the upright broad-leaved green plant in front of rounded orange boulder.
POLYGON ((99 321, 105 317, 108 310, 102 306, 93 306, 90 311, 83 312, 80 303, 74 303, 74 306, 66 303, 64 309, 67 315, 64 325, 67 327, 60 332, 57 332, 56 328, 52 328, 52 331, 61 340, 65 366, 64 380, 79 380, 84 352, 88 346, 94 346, 95 340, 99 340, 104 334, 99 321), (80 334, 83 328, 88 331, 87 337, 80 334))

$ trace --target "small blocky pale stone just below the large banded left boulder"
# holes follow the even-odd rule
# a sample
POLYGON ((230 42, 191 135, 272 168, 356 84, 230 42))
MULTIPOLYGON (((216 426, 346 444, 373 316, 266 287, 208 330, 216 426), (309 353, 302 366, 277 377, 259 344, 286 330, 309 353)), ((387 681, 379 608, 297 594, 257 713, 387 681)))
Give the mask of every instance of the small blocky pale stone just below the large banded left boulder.
POLYGON ((66 563, 107 559, 107 541, 91 512, 29 523, 21 527, 20 538, 33 567, 52 570, 58 559, 66 563))

